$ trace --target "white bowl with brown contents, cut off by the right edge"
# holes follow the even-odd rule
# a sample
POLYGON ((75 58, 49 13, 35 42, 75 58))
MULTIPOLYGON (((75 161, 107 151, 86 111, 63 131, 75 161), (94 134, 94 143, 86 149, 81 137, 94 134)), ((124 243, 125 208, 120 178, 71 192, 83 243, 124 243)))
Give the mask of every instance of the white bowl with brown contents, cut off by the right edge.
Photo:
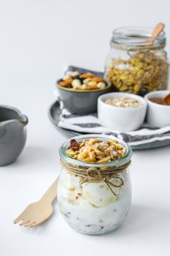
POLYGON ((147 123, 153 127, 167 127, 170 125, 170 106, 161 105, 151 102, 151 98, 163 98, 170 91, 152 91, 146 94, 144 98, 147 100, 147 123))

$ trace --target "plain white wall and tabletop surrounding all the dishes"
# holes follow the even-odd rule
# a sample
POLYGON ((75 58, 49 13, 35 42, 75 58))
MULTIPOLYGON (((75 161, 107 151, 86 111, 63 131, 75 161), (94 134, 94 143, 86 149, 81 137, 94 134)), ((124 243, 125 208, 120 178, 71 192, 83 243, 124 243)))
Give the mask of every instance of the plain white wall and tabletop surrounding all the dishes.
POLYGON ((169 255, 170 147, 135 151, 133 201, 124 224, 106 236, 75 233, 55 206, 44 225, 12 221, 58 176, 58 148, 66 138, 50 124, 55 80, 67 64, 103 70, 112 30, 166 23, 169 1, 1 0, 0 104, 29 118, 28 140, 13 165, 0 168, 0 255, 169 255))

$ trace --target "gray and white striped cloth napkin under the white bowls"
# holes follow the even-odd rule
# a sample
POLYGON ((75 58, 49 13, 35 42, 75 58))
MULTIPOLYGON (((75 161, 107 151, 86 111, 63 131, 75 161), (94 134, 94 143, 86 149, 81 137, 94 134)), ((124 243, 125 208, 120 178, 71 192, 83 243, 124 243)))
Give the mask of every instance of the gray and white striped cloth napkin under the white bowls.
POLYGON ((102 127, 96 113, 83 116, 72 114, 64 108, 61 99, 58 98, 58 101, 61 108, 58 127, 80 133, 114 135, 127 142, 130 146, 138 146, 144 143, 151 143, 156 140, 170 139, 170 127, 158 129, 150 127, 148 124, 144 124, 140 129, 133 132, 119 132, 102 127))

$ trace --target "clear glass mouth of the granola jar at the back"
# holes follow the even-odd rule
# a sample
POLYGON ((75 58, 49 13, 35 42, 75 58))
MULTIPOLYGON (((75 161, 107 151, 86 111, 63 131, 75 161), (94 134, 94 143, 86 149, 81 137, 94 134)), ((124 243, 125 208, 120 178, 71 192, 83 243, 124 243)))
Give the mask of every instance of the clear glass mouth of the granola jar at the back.
MULTIPOLYGON (((154 28, 152 27, 144 27, 144 26, 125 26, 115 29, 112 32, 111 45, 122 45, 133 48, 138 48, 142 46, 150 46, 150 40, 153 39, 152 31, 154 28)), ((166 33, 162 31, 161 34, 155 39, 154 45, 152 47, 160 47, 164 46, 166 43, 166 33)))

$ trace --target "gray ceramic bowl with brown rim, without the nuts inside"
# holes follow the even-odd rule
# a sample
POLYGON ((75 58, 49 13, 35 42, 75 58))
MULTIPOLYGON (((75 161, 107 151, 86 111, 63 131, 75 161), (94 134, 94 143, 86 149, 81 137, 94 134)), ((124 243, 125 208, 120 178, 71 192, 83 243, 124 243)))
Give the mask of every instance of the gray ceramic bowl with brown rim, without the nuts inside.
MULTIPOLYGON (((85 115, 97 112, 97 99, 101 94, 106 94, 111 91, 111 86, 107 84, 104 89, 97 90, 74 90, 59 86, 58 83, 62 79, 59 79, 56 86, 59 91, 63 105, 71 113, 85 115)), ((106 83, 106 82, 105 82, 106 83)))

